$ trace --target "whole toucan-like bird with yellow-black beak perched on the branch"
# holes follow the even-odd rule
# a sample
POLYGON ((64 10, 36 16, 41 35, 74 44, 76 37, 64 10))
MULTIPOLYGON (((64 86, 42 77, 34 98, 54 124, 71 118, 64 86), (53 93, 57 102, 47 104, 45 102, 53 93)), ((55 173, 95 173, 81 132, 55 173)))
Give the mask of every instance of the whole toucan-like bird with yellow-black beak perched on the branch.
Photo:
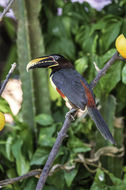
POLYGON ((50 80, 56 91, 68 102, 71 110, 85 110, 94 121, 101 135, 112 144, 116 144, 106 122, 96 107, 95 96, 90 84, 74 69, 71 61, 59 54, 51 54, 31 60, 26 70, 51 68, 50 80))

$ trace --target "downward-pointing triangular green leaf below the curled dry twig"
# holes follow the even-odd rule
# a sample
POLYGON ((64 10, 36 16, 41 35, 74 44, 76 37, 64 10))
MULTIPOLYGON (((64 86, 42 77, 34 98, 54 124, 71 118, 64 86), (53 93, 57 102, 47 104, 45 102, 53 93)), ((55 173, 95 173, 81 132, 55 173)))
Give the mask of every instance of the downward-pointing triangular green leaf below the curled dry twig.
POLYGON ((67 184, 68 187, 71 186, 72 181, 74 180, 77 172, 78 172, 77 169, 71 170, 70 172, 65 172, 64 177, 65 177, 66 184, 67 184))

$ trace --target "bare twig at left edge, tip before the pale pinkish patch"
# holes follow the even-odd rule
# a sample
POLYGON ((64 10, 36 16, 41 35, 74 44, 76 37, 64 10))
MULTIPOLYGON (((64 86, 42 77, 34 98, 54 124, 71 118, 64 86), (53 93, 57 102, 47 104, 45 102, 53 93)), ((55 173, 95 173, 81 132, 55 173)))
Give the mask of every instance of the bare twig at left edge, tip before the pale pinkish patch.
POLYGON ((2 92, 3 92, 3 90, 4 90, 4 88, 5 88, 5 86, 6 86, 6 84, 7 84, 7 82, 8 82, 8 80, 9 80, 11 74, 13 73, 15 67, 16 67, 16 63, 13 63, 13 64, 11 65, 11 68, 10 68, 10 70, 9 70, 9 72, 8 72, 8 74, 7 74, 7 76, 6 76, 6 79, 4 80, 4 82, 2 83, 2 86, 1 86, 1 88, 0 88, 0 96, 1 96, 1 94, 2 94, 2 92))

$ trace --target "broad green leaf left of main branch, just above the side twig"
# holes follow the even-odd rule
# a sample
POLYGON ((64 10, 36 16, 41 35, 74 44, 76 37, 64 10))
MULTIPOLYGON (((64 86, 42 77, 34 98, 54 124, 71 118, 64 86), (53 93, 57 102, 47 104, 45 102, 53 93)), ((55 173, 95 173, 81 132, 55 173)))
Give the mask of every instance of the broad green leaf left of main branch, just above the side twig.
POLYGON ((33 154, 30 165, 43 165, 47 160, 49 155, 49 150, 46 148, 38 148, 33 154))

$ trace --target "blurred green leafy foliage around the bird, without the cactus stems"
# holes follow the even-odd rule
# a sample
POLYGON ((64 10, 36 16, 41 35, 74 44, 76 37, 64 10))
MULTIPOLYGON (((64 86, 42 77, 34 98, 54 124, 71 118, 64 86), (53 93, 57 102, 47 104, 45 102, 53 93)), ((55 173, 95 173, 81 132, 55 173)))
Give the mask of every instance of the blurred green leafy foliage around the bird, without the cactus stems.
MULTIPOLYGON (((68 57, 78 72, 91 82, 97 74, 93 62, 96 62, 101 69, 116 51, 114 45, 116 37, 120 33, 126 36, 125 17, 125 0, 112 1, 112 4, 100 12, 87 3, 71 3, 62 0, 43 1, 39 19, 45 54, 59 53, 68 57), (58 15, 58 8, 62 9, 61 15, 58 15)), ((6 31, 2 36, 5 35, 9 39, 9 45, 5 38, 0 41, 0 46, 4 47, 1 61, 6 57, 4 60, 6 64, 0 70, 2 79, 5 78, 10 64, 13 61, 18 62, 16 55, 20 52, 17 52, 15 43, 16 24, 11 19, 4 18, 1 26, 2 29, 4 28, 3 31, 6 31), (6 47, 9 53, 5 51, 6 47)), ((20 78, 18 70, 16 75, 20 78)), ((125 84, 125 62, 118 61, 94 89, 98 106, 101 105, 102 115, 115 136, 118 148, 122 147, 125 139, 125 129, 123 129, 126 120, 125 84)), ((43 86, 44 88, 46 86, 43 86)), ((39 91, 39 89, 36 90, 39 91)), ((33 130, 32 135, 29 133, 29 123, 22 119, 22 110, 14 116, 8 103, 0 98, 0 111, 11 114, 14 119, 13 124, 6 124, 0 136, 0 180, 23 175, 29 170, 44 166, 67 111, 64 102, 52 89, 50 97, 52 114, 41 113, 33 118, 37 129, 33 130)), ((25 112, 30 113, 29 110, 25 112)), ((61 164, 63 167, 48 177, 44 190, 125 189, 125 155, 120 158, 103 156, 100 158, 101 167, 95 163, 89 166, 91 170, 77 162, 80 154, 89 158, 99 148, 109 145, 96 130, 89 117, 78 118, 72 123, 68 138, 64 140, 54 162, 54 165, 61 164), (95 142, 96 145, 94 145, 95 142), (91 171, 95 169, 96 172, 92 173, 91 171)), ((125 142, 124 146, 126 146, 125 142)), ((34 190, 36 183, 37 179, 32 177, 3 189, 34 190)))

